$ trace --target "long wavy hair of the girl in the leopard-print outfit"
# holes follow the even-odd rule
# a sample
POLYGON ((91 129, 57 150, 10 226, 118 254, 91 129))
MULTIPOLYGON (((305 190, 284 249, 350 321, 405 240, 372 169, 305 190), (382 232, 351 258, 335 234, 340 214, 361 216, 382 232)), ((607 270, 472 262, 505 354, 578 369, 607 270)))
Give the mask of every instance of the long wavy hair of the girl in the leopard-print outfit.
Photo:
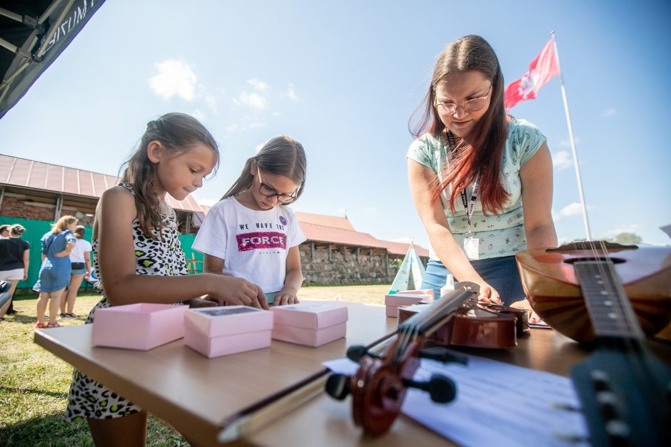
POLYGON ((130 183, 133 186, 140 228, 144 235, 156 239, 151 230, 160 228, 163 220, 161 204, 153 189, 156 185, 156 165, 151 163, 147 155, 147 145, 152 141, 158 141, 173 155, 179 155, 190 150, 193 145, 203 143, 217 155, 213 173, 219 165, 219 148, 205 126, 184 113, 167 113, 147 123, 147 130, 142 135, 138 148, 124 163, 126 169, 121 175, 121 183, 130 183))

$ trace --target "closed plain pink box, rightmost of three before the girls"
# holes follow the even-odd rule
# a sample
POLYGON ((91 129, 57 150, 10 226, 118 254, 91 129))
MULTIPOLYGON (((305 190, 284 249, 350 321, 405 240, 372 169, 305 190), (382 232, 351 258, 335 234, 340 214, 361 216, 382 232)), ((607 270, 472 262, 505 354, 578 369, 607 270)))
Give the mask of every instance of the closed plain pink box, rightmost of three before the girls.
POLYGON ((331 303, 301 303, 271 309, 273 339, 305 346, 321 346, 347 333, 347 307, 331 303))

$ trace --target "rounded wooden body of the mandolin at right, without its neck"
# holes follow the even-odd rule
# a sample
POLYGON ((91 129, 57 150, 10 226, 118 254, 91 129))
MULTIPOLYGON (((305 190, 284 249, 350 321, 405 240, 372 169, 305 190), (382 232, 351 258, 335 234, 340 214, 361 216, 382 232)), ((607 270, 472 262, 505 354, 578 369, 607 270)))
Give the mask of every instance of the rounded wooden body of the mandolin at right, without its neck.
POLYGON ((657 334, 671 321, 671 247, 607 244, 605 248, 606 252, 597 242, 577 242, 519 252, 516 258, 531 307, 557 332, 580 342, 594 341, 573 264, 608 257, 641 329, 647 336, 657 334))

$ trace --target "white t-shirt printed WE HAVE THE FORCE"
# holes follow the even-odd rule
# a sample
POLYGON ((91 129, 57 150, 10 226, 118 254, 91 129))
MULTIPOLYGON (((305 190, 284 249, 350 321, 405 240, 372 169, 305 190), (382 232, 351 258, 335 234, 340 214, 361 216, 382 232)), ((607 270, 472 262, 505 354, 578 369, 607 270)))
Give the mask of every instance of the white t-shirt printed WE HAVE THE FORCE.
POLYGON ((192 248, 223 259, 223 274, 247 279, 268 293, 282 289, 288 251, 305 240, 291 208, 250 210, 228 197, 211 207, 192 248))

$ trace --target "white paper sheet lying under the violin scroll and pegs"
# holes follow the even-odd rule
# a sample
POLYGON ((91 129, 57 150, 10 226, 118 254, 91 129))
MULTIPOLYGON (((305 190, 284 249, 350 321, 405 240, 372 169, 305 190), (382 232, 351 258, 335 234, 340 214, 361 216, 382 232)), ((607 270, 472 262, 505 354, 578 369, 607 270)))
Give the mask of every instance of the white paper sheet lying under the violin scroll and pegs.
MULTIPOLYGON (((351 375, 358 364, 338 359, 324 366, 351 375)), ((425 381, 437 373, 456 382, 457 399, 435 404, 428 393, 410 389, 402 411, 455 443, 478 447, 589 445, 575 441, 587 438, 582 413, 558 408, 580 406, 566 377, 468 356, 468 366, 423 360, 415 380, 425 381)))

